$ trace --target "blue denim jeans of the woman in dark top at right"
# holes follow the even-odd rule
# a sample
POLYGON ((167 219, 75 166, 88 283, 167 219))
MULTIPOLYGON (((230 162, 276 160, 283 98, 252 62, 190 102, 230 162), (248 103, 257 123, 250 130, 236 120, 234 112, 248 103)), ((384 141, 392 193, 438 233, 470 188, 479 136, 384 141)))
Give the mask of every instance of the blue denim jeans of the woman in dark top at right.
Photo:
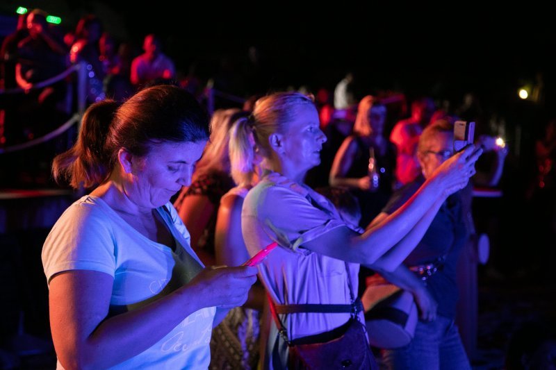
POLYGON ((453 319, 437 316, 432 322, 418 321, 411 343, 382 351, 381 369, 470 370, 453 319))

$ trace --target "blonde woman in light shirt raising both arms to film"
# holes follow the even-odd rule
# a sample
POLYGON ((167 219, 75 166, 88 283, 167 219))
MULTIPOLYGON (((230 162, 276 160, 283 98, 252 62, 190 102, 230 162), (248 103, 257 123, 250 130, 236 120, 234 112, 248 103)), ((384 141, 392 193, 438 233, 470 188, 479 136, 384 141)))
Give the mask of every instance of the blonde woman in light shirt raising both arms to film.
MULTIPOLYGON (((303 183, 306 171, 319 165, 326 140, 311 99, 296 92, 265 96, 254 108, 252 126, 265 171, 243 203, 243 238, 250 255, 273 240, 286 247, 274 249, 259 264, 259 278, 276 313, 265 366, 298 367, 299 363, 288 364, 288 342, 329 342, 358 325, 362 340, 357 343, 366 342, 360 330, 363 314, 354 299, 359 264, 388 271, 398 267, 446 197, 475 173, 481 150, 468 146, 444 162, 402 208, 363 232, 345 224, 330 201, 303 183)), ((233 135, 231 140, 238 147, 250 147, 248 135, 233 135)), ((373 367, 370 352, 367 359, 359 364, 362 368, 373 367)))

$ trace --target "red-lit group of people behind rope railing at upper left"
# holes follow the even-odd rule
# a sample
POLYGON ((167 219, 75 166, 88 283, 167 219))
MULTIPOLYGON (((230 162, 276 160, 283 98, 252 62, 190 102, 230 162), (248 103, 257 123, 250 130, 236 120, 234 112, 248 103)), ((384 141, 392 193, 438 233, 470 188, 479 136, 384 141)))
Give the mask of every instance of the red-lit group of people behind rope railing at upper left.
MULTIPOLYGON (((8 104, 0 107, 4 112, 0 117, 1 144, 17 144, 44 135, 74 112, 75 86, 71 81, 64 79, 35 89, 35 85, 55 78, 71 65, 83 63, 86 69, 88 104, 107 96, 123 101, 142 87, 176 78, 174 62, 165 56, 156 35, 145 36, 144 53, 134 49, 138 48, 129 42, 116 44, 95 15, 81 17, 74 30, 50 24, 47 13, 40 9, 19 15, 17 30, 2 43, 0 81, 3 89, 22 90, 18 106, 26 108, 8 104)), ((71 78, 76 80, 75 75, 71 78)))

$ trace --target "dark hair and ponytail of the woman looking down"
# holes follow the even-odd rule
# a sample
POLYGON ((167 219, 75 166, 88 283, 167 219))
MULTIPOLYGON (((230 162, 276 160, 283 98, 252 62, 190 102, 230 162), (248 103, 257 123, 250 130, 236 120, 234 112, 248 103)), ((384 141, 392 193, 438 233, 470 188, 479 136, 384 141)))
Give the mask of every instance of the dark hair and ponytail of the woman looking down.
POLYGON ((206 141, 209 131, 193 95, 170 85, 149 87, 120 107, 111 100, 90 106, 76 144, 54 158, 52 174, 74 188, 93 187, 110 176, 120 149, 141 157, 161 142, 206 141))

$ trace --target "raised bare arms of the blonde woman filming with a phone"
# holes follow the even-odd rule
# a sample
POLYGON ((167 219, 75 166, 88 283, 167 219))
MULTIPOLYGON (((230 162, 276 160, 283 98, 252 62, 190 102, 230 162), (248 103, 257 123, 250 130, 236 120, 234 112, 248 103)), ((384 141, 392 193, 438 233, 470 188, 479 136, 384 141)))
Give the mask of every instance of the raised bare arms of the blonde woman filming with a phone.
POLYGON ((417 245, 420 240, 418 235, 425 233, 446 197, 463 188, 468 178, 475 174, 473 166, 481 153, 482 149, 475 150, 474 146, 468 146, 445 161, 409 201, 362 235, 347 227, 339 227, 302 245, 348 262, 378 262, 383 269, 392 271, 417 245))

